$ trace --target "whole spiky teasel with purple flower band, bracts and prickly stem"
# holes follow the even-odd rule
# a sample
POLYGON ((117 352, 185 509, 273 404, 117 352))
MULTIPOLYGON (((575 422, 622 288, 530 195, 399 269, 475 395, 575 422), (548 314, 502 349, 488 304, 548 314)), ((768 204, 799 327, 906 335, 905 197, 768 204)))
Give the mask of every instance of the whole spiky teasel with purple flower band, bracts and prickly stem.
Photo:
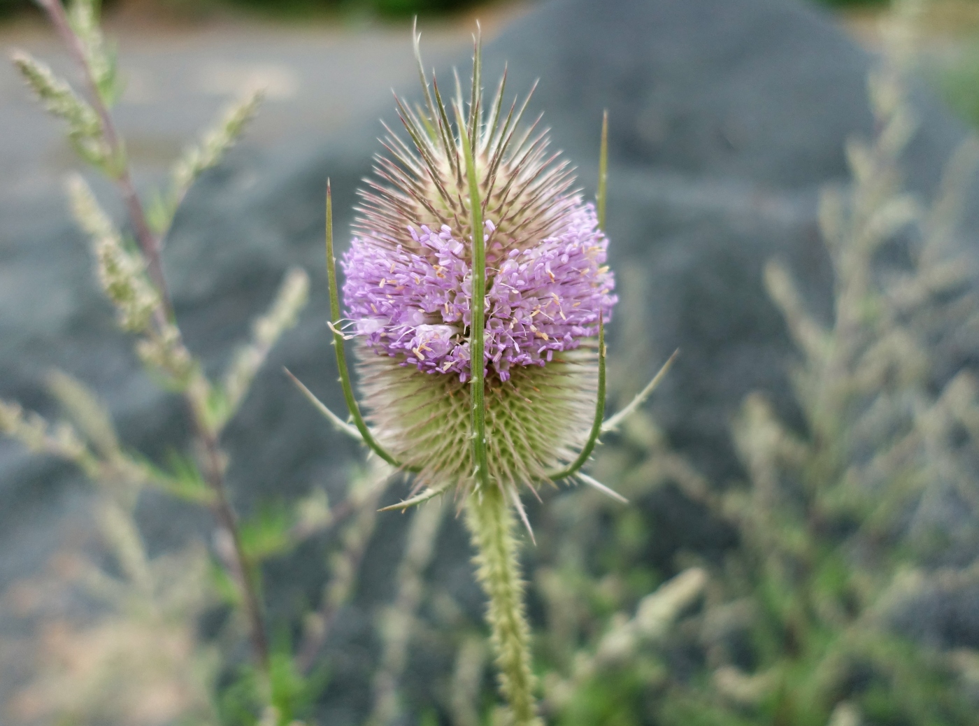
POLYGON ((343 259, 346 312, 327 183, 330 327, 350 418, 296 382, 394 474, 413 477, 411 496, 384 510, 450 494, 465 512, 508 718, 529 726, 540 720, 517 519, 532 541, 534 533, 521 497, 571 481, 625 503, 583 467, 673 359, 605 418, 604 326, 617 302, 605 265, 607 116, 597 198, 584 203, 540 118, 523 122, 531 96, 506 107, 505 71, 484 95, 479 31, 468 98, 456 73, 447 103, 425 72, 417 26, 412 39, 423 103, 396 97, 408 139, 386 126, 386 153, 360 191, 343 259), (351 383, 350 339, 366 413, 351 383))

